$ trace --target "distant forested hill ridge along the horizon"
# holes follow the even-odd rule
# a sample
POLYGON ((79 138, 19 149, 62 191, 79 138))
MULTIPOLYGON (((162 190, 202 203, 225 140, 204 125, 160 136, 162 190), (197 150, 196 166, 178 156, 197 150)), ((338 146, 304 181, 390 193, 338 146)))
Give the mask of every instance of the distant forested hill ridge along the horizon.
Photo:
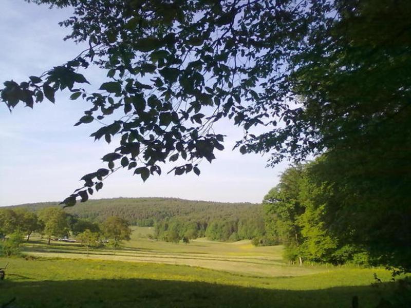
MULTIPOLYGON (((21 204, 13 207, 38 210, 58 204, 58 202, 45 202, 21 204)), ((109 216, 119 216, 127 219, 131 224, 152 225, 154 221, 172 217, 205 221, 219 218, 238 218, 259 212, 259 209, 260 206, 253 203, 191 201, 177 198, 114 198, 89 200, 68 207, 66 211, 69 214, 96 222, 102 222, 109 216)))

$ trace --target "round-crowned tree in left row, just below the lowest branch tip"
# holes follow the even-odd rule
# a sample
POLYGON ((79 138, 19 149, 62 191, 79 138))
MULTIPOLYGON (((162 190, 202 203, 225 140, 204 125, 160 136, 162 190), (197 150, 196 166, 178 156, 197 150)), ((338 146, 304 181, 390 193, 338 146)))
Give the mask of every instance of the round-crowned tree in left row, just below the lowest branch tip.
POLYGON ((44 234, 48 237, 48 244, 52 236, 63 237, 69 232, 65 211, 60 207, 46 207, 39 213, 39 219, 44 224, 44 234))

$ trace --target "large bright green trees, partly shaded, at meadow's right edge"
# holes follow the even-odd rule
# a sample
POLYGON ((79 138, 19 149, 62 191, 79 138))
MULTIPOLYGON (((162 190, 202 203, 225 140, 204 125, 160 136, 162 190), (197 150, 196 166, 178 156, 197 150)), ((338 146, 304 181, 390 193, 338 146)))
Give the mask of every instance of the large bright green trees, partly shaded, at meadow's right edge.
POLYGON ((289 261, 409 271, 407 184, 386 172, 389 161, 380 170, 375 164, 328 152, 283 172, 263 203, 266 232, 285 245, 289 261))

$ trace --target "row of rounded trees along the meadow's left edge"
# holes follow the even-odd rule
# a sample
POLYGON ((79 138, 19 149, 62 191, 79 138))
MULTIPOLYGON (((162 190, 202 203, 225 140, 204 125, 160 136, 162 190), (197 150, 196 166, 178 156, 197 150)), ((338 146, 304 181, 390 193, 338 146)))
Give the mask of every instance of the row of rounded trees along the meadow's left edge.
POLYGON ((19 251, 23 235, 26 241, 35 232, 47 239, 68 239, 70 236, 87 248, 107 244, 116 249, 123 240, 129 240, 132 230, 123 218, 108 217, 103 223, 91 222, 66 213, 61 207, 45 207, 38 212, 26 208, 0 209, 0 237, 6 255, 19 251), (8 237, 8 240, 6 240, 8 237))

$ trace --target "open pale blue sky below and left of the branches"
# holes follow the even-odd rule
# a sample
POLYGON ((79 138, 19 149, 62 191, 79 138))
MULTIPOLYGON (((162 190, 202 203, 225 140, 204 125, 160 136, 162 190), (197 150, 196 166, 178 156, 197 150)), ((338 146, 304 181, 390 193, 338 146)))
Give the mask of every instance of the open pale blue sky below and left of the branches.
MULTIPOLYGON (((26 81, 52 66, 75 57, 84 46, 63 41, 68 30, 58 22, 70 16, 70 10, 49 10, 47 6, 23 0, 0 1, 0 82, 26 81)), ((87 70, 86 78, 98 88, 105 72, 87 70)), ((89 105, 70 101, 67 92, 57 94, 56 103, 45 100, 33 109, 20 104, 9 112, 0 104, 0 206, 22 203, 61 201, 80 187, 80 178, 106 167, 101 158, 117 144, 94 142, 90 133, 99 128, 94 123, 74 127, 89 105)), ((92 199, 116 197, 175 197, 221 202, 261 202, 278 183, 287 167, 283 162, 266 168, 268 156, 241 155, 232 151, 242 130, 229 122, 216 126, 227 136, 217 159, 200 165, 201 175, 163 175, 145 183, 132 172, 119 170, 104 181, 104 187, 92 199)))

